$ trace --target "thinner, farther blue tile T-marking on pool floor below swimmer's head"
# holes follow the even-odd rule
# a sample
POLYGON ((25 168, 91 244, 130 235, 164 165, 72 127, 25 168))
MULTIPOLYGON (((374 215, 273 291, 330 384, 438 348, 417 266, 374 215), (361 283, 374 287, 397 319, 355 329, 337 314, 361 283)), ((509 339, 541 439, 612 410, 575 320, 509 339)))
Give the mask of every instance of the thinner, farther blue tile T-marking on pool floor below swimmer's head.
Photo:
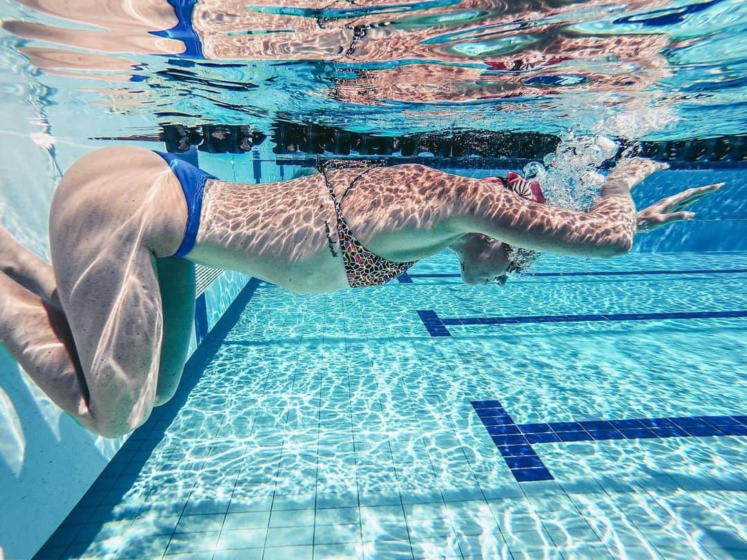
POLYGON ((526 323, 580 323, 586 321, 651 321, 667 319, 735 319, 747 317, 747 310, 737 311, 666 311, 660 313, 589 313, 577 315, 527 315, 517 317, 438 317, 436 311, 416 311, 432 337, 451 336, 447 326, 519 325, 526 323))

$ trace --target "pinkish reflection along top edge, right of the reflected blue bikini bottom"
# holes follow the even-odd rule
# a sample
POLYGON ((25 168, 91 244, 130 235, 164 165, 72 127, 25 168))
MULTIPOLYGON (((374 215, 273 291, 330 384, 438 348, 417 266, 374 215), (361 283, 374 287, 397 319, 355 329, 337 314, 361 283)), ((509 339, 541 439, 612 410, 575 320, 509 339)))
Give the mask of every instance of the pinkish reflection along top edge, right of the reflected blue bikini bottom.
MULTIPOLYGON (((635 13, 663 3, 666 0, 629 0, 624 8, 635 13)), ((214 60, 419 58, 464 63, 509 54, 521 58, 527 49, 562 53, 554 45, 558 37, 577 36, 568 25, 601 17, 603 5, 598 0, 567 5, 542 0, 462 0, 447 5, 390 0, 202 0, 194 7, 192 25, 205 57, 214 60)), ((603 57, 618 54, 617 37, 589 39, 604 42, 603 57)))

